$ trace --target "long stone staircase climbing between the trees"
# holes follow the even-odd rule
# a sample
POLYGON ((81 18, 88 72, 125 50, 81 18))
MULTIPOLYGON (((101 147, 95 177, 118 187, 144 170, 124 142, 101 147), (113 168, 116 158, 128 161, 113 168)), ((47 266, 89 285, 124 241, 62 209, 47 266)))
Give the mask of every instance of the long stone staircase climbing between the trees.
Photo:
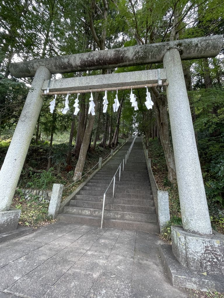
MULTIPOLYGON (((60 221, 100 226, 103 194, 131 145, 129 141, 99 170, 57 216, 60 221)), ((106 194, 104 227, 159 232, 141 138, 136 138, 124 172, 106 194)))

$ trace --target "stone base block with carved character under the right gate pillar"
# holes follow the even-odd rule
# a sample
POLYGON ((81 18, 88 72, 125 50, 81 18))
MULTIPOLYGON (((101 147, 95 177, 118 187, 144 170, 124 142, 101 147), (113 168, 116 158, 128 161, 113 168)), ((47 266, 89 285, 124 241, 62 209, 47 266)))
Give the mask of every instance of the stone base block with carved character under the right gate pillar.
POLYGON ((191 234, 171 227, 172 251, 179 263, 194 271, 224 274, 224 235, 191 234))

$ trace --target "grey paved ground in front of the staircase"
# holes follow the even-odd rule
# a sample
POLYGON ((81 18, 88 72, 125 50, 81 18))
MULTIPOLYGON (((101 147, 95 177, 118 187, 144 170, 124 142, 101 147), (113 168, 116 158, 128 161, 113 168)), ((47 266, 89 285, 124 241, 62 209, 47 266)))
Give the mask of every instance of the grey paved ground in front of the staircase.
POLYGON ((168 282, 159 243, 155 234, 56 222, 0 244, 0 298, 188 297, 168 282))

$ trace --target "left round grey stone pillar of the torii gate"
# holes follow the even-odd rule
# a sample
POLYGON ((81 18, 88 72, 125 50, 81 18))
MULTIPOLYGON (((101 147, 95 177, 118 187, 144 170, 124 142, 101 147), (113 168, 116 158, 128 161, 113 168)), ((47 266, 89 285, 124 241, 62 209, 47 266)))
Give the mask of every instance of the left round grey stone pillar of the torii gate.
POLYGON ((9 210, 43 103, 42 85, 51 73, 40 66, 33 78, 19 121, 0 171, 0 210, 9 210))

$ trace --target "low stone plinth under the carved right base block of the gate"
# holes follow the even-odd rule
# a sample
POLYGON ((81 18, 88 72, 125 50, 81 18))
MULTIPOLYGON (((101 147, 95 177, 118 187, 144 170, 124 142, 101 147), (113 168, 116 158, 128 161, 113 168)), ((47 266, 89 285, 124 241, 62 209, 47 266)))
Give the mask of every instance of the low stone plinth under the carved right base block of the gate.
POLYGON ((159 256, 170 282, 175 287, 224 293, 224 275, 199 272, 183 267, 175 258, 169 244, 159 246, 159 256))

